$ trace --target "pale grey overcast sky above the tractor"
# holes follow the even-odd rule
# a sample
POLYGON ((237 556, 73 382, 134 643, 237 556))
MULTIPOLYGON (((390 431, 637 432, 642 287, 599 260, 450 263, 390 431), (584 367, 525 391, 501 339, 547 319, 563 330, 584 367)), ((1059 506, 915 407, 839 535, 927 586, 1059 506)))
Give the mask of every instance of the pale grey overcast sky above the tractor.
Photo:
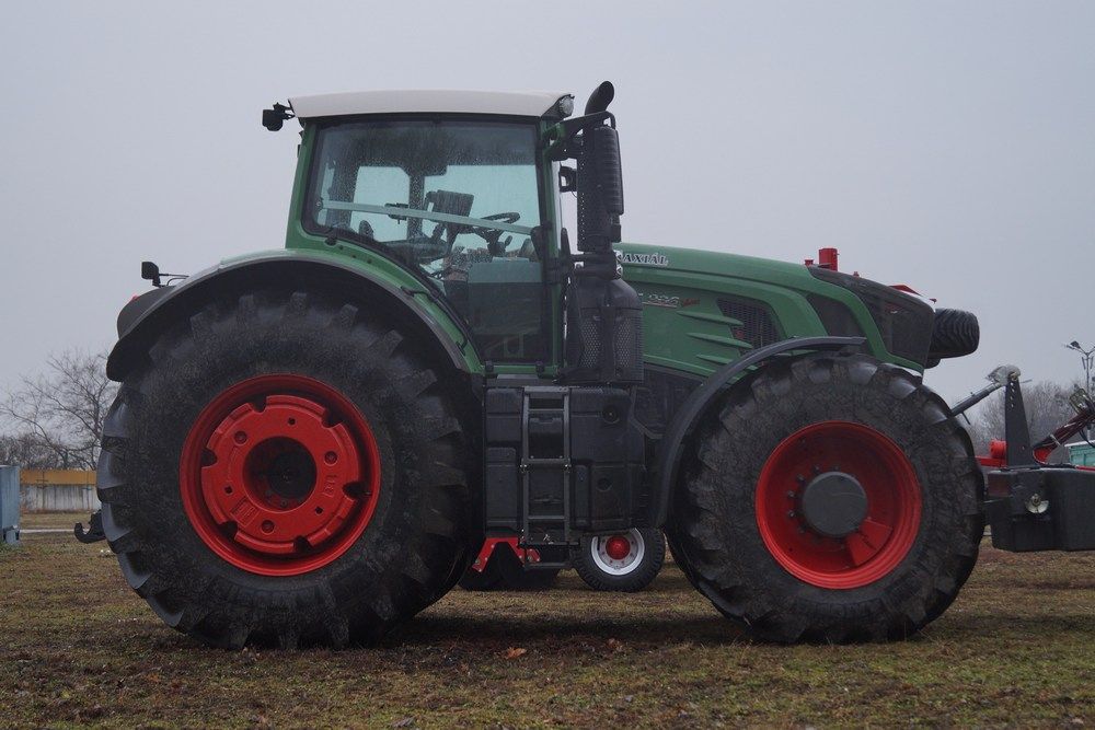
POLYGON ((113 341, 139 262, 284 243, 293 94, 616 84, 626 240, 907 282, 981 321, 927 382, 1095 340, 1095 3, 37 2, 0 23, 0 386, 113 341))

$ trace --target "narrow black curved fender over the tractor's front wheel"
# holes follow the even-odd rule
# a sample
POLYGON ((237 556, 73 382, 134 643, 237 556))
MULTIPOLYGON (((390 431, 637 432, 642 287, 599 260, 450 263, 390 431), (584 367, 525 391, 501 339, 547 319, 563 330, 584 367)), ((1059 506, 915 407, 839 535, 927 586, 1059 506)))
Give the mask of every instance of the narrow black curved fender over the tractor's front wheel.
POLYGON ((794 337, 756 349, 740 360, 725 364, 712 373, 700 387, 692 391, 692 395, 673 414, 673 418, 661 438, 658 448, 658 472, 655 477, 657 479, 657 514, 654 524, 664 526, 669 519, 669 495, 673 485, 677 484, 677 473, 684 442, 707 415, 718 396, 734 381, 745 374, 749 368, 788 352, 857 348, 862 347, 865 341, 865 337, 794 337))

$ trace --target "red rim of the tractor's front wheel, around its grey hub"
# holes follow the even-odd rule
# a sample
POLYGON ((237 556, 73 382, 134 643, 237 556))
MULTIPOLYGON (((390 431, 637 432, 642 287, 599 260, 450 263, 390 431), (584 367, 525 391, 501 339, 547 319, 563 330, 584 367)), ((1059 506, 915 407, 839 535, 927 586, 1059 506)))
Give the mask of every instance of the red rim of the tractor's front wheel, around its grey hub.
POLYGON ((812 586, 853 589, 894 570, 920 530, 920 483, 912 463, 884 433, 862 424, 823 421, 775 448, 757 483, 757 525, 772 557, 812 586), (831 474, 862 487, 865 515, 849 534, 822 534, 804 517, 804 494, 831 474))

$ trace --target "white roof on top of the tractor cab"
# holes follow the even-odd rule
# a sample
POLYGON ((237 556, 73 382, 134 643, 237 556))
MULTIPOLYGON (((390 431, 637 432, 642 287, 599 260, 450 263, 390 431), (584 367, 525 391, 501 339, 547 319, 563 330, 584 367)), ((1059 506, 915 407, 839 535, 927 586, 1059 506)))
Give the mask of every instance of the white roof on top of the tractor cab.
POLYGON ((343 94, 293 96, 289 100, 298 118, 337 117, 350 114, 505 114, 543 116, 564 92, 528 91, 355 91, 343 94))

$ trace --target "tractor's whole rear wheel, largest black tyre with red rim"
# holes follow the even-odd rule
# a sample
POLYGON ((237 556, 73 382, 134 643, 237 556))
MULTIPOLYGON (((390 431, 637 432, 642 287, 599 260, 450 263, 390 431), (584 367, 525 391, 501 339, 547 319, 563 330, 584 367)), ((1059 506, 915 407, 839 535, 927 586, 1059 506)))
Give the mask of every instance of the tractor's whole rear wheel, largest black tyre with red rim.
POLYGON ((105 430, 97 488, 126 580, 207 644, 371 642, 469 561, 454 406, 356 305, 211 302, 127 375, 105 430))

